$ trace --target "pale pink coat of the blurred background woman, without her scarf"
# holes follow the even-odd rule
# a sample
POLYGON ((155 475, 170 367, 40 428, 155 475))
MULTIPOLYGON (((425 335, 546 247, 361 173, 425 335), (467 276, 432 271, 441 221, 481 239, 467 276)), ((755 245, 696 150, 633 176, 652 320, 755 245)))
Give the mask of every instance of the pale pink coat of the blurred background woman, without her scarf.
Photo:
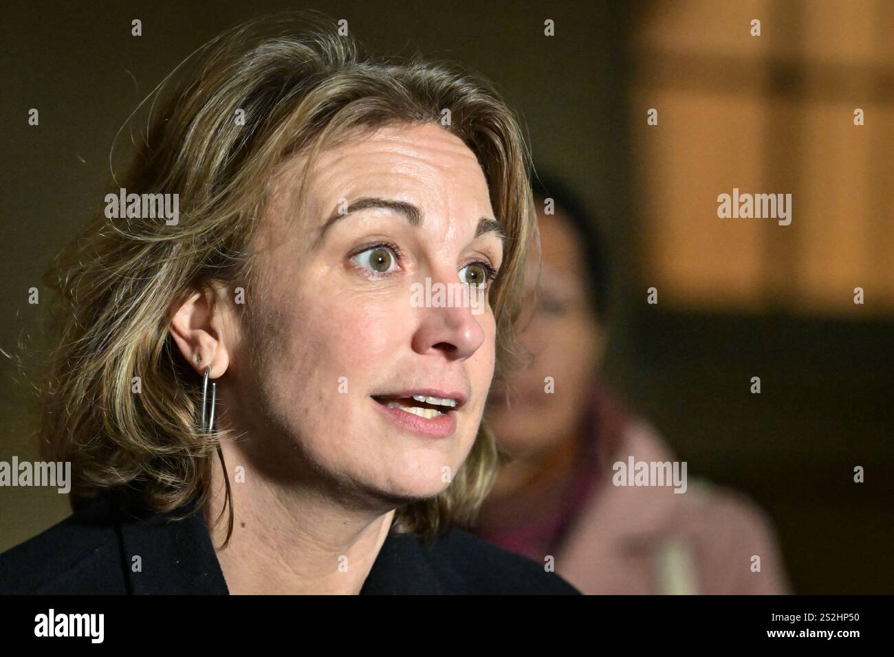
POLYGON ((772 526, 745 495, 693 477, 686 493, 614 485, 617 461, 674 460, 642 420, 625 425, 605 456, 555 555, 572 585, 585 594, 789 593, 772 526))

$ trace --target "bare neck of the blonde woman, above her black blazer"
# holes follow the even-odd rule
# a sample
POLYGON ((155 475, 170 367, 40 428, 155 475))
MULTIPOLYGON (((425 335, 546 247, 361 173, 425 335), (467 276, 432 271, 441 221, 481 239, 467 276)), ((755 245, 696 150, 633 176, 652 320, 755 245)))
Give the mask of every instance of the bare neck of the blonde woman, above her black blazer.
MULTIPOLYGON (((245 463, 224 445, 228 463, 245 463)), ((394 511, 375 515, 347 510, 318 492, 283 488, 260 476, 235 483, 229 510, 211 536, 231 594, 358 594, 391 528, 394 511)), ((205 510, 208 526, 223 509, 223 474, 215 460, 215 497, 205 510)))

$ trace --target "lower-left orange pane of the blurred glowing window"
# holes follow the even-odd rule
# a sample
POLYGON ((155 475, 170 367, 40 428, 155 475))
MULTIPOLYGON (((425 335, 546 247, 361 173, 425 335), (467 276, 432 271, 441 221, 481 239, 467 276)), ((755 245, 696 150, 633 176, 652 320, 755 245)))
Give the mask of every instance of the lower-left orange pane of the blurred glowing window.
POLYGON ((764 223, 718 218, 717 195, 760 189, 763 106, 673 91, 639 97, 661 108, 659 129, 640 131, 638 143, 645 282, 687 306, 760 305, 764 223))

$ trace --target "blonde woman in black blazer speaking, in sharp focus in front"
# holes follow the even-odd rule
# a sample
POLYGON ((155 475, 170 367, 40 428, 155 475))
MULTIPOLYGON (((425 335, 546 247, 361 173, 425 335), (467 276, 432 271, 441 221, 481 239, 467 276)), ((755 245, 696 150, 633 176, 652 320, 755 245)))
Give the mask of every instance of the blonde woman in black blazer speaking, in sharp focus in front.
POLYGON ((0 556, 4 593, 577 593, 452 527, 493 481, 536 231, 516 119, 453 65, 292 25, 164 80, 49 275, 42 444, 75 513, 0 556))

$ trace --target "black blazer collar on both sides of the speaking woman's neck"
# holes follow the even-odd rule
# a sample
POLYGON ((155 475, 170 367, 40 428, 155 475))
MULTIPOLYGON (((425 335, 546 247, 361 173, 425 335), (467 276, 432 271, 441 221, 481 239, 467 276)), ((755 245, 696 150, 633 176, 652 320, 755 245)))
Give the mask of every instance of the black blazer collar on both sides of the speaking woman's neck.
MULTIPOLYGON (((122 496, 119 522, 132 594, 230 593, 205 516, 193 503, 177 512, 152 514, 140 510, 134 496, 122 496), (184 513, 190 515, 174 519, 184 513)), ((361 595, 441 593, 425 548, 412 532, 387 535, 360 589, 361 595)))

